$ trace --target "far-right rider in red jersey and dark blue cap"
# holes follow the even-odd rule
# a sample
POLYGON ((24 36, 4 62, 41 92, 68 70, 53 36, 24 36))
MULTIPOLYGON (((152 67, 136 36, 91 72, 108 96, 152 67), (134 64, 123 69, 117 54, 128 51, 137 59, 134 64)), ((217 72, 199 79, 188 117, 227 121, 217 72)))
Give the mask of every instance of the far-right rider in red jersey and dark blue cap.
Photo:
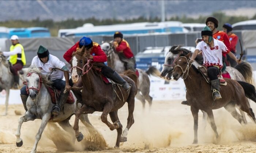
MULTIPOLYGON (((236 34, 232 33, 233 28, 232 28, 231 24, 225 23, 222 27, 223 27, 223 31, 229 37, 230 51, 236 56, 236 45, 237 45, 238 36, 236 34)), ((232 67, 235 67, 237 65, 236 61, 231 59, 229 55, 227 55, 227 60, 229 60, 230 65, 232 67)))

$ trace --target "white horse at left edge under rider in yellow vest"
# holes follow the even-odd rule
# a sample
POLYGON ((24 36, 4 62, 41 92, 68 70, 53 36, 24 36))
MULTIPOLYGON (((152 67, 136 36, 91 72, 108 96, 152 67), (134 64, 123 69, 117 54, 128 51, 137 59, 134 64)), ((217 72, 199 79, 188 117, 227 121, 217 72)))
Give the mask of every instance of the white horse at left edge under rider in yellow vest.
MULTIPOLYGON (((27 70, 27 68, 22 69, 24 74, 25 74, 26 70, 27 70)), ((25 75, 22 75, 20 77, 20 80, 19 80, 20 88, 23 86, 23 82, 25 81, 25 79, 26 79, 25 75)), ((0 52, 0 92, 1 92, 1 90, 6 91, 5 113, 3 115, 7 115, 10 89, 13 89, 13 86, 14 86, 14 75, 10 71, 10 64, 8 63, 8 60, 3 55, 3 53, 0 52)))

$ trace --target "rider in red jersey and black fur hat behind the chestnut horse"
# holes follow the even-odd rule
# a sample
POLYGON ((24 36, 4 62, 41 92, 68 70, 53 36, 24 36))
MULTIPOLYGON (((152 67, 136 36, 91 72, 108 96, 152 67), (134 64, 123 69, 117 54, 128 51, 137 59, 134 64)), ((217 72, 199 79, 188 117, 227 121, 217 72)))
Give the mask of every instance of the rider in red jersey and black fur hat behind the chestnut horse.
POLYGON ((114 40, 115 41, 113 42, 113 44, 115 50, 119 53, 123 53, 123 55, 125 56, 124 58, 128 59, 126 66, 127 70, 132 70, 133 72, 135 72, 136 60, 128 42, 123 39, 123 34, 121 32, 115 32, 114 40))

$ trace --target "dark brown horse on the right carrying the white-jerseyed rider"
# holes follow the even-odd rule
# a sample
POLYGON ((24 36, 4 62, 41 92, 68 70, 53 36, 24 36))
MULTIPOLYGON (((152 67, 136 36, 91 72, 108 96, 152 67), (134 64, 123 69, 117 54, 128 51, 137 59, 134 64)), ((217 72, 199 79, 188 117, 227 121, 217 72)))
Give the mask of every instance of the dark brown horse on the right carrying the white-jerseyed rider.
POLYGON ((244 123, 242 116, 237 113, 235 105, 246 112, 255 123, 255 116, 252 109, 247 105, 248 97, 256 102, 255 87, 249 83, 235 81, 224 78, 227 82, 226 86, 221 86, 222 99, 213 101, 211 86, 208 84, 199 70, 196 68, 196 62, 191 63, 189 59, 190 53, 186 56, 180 55, 175 62, 173 70, 173 78, 178 80, 180 77, 184 79, 187 88, 186 98, 191 104, 191 112, 194 118, 194 141, 197 143, 197 128, 198 128, 198 111, 203 110, 207 113, 210 119, 210 125, 218 138, 217 127, 215 125, 213 109, 224 107, 231 115, 238 120, 239 123, 244 123))

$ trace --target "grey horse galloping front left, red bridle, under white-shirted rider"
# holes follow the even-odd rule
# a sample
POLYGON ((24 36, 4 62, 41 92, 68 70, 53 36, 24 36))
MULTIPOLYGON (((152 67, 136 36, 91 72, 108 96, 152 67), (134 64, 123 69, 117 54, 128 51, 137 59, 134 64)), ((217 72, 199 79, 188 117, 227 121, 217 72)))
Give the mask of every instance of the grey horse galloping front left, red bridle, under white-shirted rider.
MULTIPOLYGON (((35 137, 35 143, 33 149, 31 150, 31 153, 36 152, 38 141, 40 140, 41 135, 48 122, 59 123, 59 125, 65 131, 71 133, 74 136, 73 141, 75 141, 75 132, 69 123, 69 119, 73 114, 76 113, 76 110, 78 110, 81 105, 77 106, 76 102, 74 102, 73 104, 65 103, 64 109, 60 112, 60 115, 58 115, 57 117, 52 117, 52 107, 55 106, 55 104, 52 103, 50 94, 46 89, 46 86, 51 86, 51 82, 46 78, 46 76, 42 75, 40 73, 40 70, 35 66, 30 66, 30 68, 27 70, 26 82, 27 90, 29 91, 29 97, 26 103, 28 110, 26 111, 25 115, 20 117, 19 119, 18 130, 15 134, 16 146, 20 147, 23 145, 23 141, 20 138, 20 128, 22 123, 27 121, 33 121, 34 119, 42 119, 42 122, 35 137)), ((86 127, 92 127, 87 115, 81 115, 79 119, 86 127)))

